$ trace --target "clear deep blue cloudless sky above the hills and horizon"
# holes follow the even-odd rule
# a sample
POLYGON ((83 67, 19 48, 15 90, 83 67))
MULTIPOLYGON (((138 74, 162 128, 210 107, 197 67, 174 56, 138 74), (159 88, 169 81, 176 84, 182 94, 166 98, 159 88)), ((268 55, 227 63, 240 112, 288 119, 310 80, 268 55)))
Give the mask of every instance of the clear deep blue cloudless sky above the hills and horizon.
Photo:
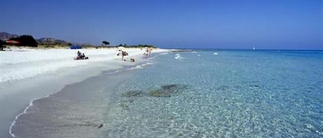
POLYGON ((0 32, 99 45, 323 49, 323 0, 1 1, 0 32))

